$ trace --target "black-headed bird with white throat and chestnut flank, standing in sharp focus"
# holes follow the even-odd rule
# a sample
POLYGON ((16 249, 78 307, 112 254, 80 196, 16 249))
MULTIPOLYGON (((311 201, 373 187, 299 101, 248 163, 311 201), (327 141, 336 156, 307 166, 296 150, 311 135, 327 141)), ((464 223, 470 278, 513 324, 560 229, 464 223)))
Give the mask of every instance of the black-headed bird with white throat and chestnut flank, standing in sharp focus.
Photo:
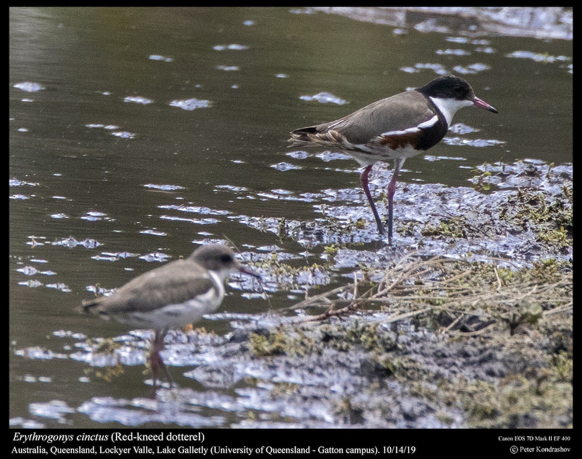
POLYGON ((379 234, 384 224, 368 188, 368 175, 377 161, 394 160, 388 185, 388 243, 392 243, 392 215, 398 173, 407 157, 438 144, 448 131, 453 115, 463 107, 498 111, 475 96, 463 78, 446 75, 413 91, 400 92, 329 123, 292 131, 290 147, 325 146, 351 155, 365 166, 360 181, 374 213, 379 234))

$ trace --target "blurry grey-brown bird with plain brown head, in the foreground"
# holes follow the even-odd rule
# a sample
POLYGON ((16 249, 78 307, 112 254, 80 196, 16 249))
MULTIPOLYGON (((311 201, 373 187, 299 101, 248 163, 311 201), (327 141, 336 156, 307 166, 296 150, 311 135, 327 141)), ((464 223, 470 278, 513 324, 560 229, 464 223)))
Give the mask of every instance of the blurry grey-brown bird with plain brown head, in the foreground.
POLYGON ((204 245, 186 259, 145 272, 116 289, 111 296, 84 300, 88 313, 130 325, 154 329, 150 365, 155 386, 159 368, 171 381, 159 352, 169 329, 197 322, 218 309, 225 295, 224 281, 231 272, 259 277, 235 259, 224 245, 204 245))

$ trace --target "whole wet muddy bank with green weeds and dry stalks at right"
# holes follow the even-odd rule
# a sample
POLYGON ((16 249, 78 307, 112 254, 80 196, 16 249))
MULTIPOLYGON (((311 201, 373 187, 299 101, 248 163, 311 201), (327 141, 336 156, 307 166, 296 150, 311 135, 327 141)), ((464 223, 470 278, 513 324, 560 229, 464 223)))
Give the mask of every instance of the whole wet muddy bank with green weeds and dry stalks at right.
MULTIPOLYGON (((235 277, 230 287, 247 298, 287 295, 292 306, 208 316, 229 322, 222 336, 170 332, 162 356, 173 388, 148 395, 144 385, 142 397, 78 407, 33 403, 31 412, 125 426, 571 428, 572 171, 484 164, 473 188, 423 185, 420 195, 403 185, 394 246, 354 190, 345 191, 354 205, 330 195, 313 221, 235 217, 279 244, 240 254, 261 285, 235 277), (287 252, 290 243, 304 252, 287 252)), ((74 344, 61 352, 16 353, 70 358, 86 378, 110 382, 145 364, 150 335, 62 331, 54 337, 74 344)))

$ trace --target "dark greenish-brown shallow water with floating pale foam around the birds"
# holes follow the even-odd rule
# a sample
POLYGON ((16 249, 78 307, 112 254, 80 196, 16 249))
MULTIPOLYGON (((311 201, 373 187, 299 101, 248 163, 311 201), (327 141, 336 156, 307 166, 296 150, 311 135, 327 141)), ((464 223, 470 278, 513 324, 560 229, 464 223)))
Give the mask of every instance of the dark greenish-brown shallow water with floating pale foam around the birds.
MULTIPOLYGON (((278 261, 297 268, 262 272, 274 309, 299 302, 306 289, 342 284, 358 253, 381 266, 413 248, 418 237, 403 235, 393 254, 378 252, 357 163, 286 148, 294 128, 455 72, 499 114, 462 110, 445 141, 407 160, 397 221, 421 220, 445 198, 449 211, 488 196, 495 205, 506 199, 496 193, 524 185, 492 180, 487 190, 462 188, 473 187, 479 167, 502 168, 484 163, 531 159, 540 170, 555 163, 571 175, 572 41, 427 24, 425 16, 395 26, 286 8, 11 8, 12 425, 133 425, 121 409, 115 418, 111 405, 147 397, 143 341, 127 338, 138 349, 123 353, 125 371, 107 382, 95 374, 101 364, 87 361, 86 338, 127 337, 128 330, 75 309, 95 291, 187 256, 197 243, 228 238, 247 260, 278 252, 278 261), (364 218, 365 231, 341 234, 326 216, 364 218), (331 243, 346 244, 335 259, 324 250, 331 243), (102 403, 104 418, 100 400, 113 400, 102 403)), ((376 168, 378 196, 391 172, 376 168)), ((432 253, 450 249, 431 242, 432 253)), ((471 239, 455 250, 491 253, 492 245, 471 239)), ((544 255, 554 254, 534 254, 544 255)), ((257 285, 229 285, 219 312, 269 308, 257 285)), ((232 318, 214 319, 194 326, 218 336, 232 331, 232 318)), ((173 372, 182 378, 195 363, 174 364, 184 365, 173 372)), ((186 378, 180 383, 193 381, 186 378)), ((198 383, 194 390, 206 389, 198 383)), ((208 390, 210 397, 215 389, 208 390)), ((244 419, 239 411, 249 407, 228 408, 233 390, 216 397, 183 421, 157 417, 150 425, 244 419)))

